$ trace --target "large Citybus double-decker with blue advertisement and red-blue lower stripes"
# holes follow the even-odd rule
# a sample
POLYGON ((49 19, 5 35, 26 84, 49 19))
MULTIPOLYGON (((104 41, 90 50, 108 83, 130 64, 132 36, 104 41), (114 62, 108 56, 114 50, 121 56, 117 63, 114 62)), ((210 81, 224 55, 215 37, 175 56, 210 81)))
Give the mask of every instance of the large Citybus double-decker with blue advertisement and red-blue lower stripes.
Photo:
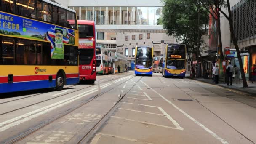
POLYGON ((0 93, 78 83, 77 48, 75 11, 48 0, 0 1, 0 93))

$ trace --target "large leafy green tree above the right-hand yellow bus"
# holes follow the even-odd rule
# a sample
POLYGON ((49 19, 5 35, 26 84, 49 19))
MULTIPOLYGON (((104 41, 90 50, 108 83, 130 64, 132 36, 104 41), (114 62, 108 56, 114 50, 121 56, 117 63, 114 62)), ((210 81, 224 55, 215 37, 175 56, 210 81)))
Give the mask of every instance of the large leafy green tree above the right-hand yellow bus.
POLYGON ((202 36, 208 34, 208 10, 200 0, 163 0, 163 3, 161 21, 168 35, 173 35, 187 45, 190 60, 190 54, 194 53, 197 60, 203 61, 200 47, 204 43, 202 36))

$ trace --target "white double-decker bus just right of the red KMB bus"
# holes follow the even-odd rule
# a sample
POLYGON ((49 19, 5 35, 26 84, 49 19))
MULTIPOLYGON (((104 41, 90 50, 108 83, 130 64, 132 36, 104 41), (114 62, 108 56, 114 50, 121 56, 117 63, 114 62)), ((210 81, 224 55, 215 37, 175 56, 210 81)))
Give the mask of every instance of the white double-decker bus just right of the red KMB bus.
POLYGON ((105 75, 111 72, 109 53, 105 48, 96 47, 96 72, 105 75))

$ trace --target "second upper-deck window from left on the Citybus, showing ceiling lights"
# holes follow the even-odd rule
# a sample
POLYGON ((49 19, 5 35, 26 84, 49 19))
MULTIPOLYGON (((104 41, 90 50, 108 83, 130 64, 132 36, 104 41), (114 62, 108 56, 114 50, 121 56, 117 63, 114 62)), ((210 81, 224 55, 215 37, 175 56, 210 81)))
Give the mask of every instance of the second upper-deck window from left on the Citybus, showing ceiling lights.
POLYGON ((16 13, 29 17, 35 18, 36 11, 35 11, 35 1, 34 0, 16 0, 16 13))

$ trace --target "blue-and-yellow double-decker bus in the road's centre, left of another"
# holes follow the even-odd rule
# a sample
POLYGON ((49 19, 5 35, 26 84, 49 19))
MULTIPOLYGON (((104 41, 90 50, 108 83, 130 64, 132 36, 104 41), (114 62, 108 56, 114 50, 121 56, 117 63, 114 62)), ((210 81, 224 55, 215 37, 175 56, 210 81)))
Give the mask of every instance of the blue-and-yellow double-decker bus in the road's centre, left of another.
POLYGON ((153 47, 136 47, 135 49, 135 75, 153 75, 153 47))

